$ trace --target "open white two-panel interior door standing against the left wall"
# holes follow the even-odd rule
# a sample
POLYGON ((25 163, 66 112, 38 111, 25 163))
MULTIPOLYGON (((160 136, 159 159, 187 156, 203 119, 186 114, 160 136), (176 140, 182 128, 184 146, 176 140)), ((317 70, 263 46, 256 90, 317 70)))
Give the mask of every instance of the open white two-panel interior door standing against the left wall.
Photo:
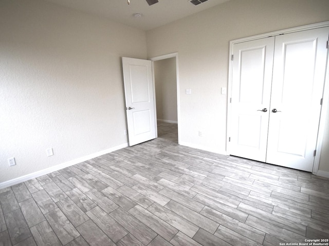
POLYGON ((129 146, 157 137, 152 62, 122 57, 129 146))

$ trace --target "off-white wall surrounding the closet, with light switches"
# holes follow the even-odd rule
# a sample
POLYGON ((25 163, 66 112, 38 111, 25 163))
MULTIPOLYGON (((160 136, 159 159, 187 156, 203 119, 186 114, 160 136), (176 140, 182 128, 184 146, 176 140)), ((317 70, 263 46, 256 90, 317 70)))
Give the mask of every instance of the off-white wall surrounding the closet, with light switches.
MULTIPOLYGON (((179 55, 181 144, 226 153, 227 96, 221 87, 228 83, 230 40, 324 22, 328 13, 327 0, 231 0, 147 31, 149 57, 179 55)), ((329 171, 328 157, 320 169, 329 171)))

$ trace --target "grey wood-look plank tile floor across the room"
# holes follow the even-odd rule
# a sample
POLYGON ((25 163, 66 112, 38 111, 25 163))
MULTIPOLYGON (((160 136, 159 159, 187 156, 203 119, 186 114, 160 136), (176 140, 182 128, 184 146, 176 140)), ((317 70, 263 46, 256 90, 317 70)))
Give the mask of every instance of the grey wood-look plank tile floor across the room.
MULTIPOLYGON (((329 239, 329 179, 157 139, 0 190, 0 245, 329 239)), ((281 244, 282 245, 282 244, 281 244)))

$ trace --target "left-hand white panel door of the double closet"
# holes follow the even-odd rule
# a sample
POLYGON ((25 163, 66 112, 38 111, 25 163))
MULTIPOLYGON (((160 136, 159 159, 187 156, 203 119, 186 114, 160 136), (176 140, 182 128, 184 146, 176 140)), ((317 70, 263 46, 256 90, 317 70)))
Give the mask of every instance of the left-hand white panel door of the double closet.
POLYGON ((268 37, 233 46, 231 155, 266 159, 274 40, 268 37))

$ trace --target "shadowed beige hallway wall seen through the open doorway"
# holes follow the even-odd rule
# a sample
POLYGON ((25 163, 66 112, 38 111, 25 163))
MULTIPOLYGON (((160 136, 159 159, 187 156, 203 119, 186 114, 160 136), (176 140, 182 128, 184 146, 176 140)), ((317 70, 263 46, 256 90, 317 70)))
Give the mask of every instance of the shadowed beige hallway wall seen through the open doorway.
POLYGON ((153 63, 158 120, 177 122, 176 57, 153 63))

